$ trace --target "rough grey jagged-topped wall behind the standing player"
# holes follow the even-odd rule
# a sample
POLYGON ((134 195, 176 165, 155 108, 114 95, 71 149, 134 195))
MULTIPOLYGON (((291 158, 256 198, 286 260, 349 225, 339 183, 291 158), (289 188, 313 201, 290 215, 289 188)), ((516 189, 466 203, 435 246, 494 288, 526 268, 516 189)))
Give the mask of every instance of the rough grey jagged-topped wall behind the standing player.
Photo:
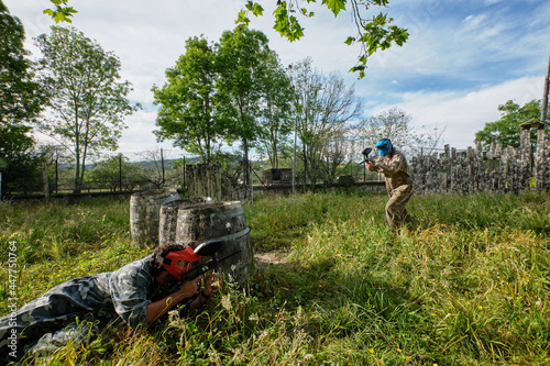
POLYGON ((410 162, 410 173, 417 193, 515 192, 530 187, 536 178, 538 189, 550 188, 550 154, 543 125, 538 130, 536 153, 530 144, 528 124, 520 131, 519 147, 503 148, 495 140, 488 152, 481 143, 465 152, 444 146, 444 153, 417 156, 410 162))

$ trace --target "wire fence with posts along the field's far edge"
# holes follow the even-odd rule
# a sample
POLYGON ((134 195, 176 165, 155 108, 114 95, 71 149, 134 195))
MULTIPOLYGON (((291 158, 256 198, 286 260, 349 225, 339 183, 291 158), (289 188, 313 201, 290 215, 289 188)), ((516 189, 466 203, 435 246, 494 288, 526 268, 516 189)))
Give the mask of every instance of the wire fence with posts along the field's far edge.
MULTIPOLYGON (((228 154, 222 164, 222 174, 233 185, 244 184, 245 167, 239 152, 228 154)), ((359 162, 359 158, 358 158, 359 162)), ((337 174, 329 177, 322 169, 306 173, 305 164, 297 158, 294 181, 296 185, 353 184, 365 180, 380 180, 377 174, 365 170, 364 166, 349 159, 338 167, 337 174)), ((57 149, 42 164, 33 181, 3 181, 2 198, 45 195, 69 195, 73 192, 132 192, 143 189, 173 187, 186 191, 186 166, 201 163, 200 157, 190 156, 177 148, 156 148, 140 152, 102 153, 87 158, 84 170, 77 168, 67 152, 57 149), (47 177, 47 179, 45 179, 47 177), (79 186, 77 187, 77 181, 79 186)), ((293 170, 292 158, 283 160, 280 168, 293 170)), ((272 169, 265 160, 251 160, 252 186, 268 186, 264 171, 272 169)))

